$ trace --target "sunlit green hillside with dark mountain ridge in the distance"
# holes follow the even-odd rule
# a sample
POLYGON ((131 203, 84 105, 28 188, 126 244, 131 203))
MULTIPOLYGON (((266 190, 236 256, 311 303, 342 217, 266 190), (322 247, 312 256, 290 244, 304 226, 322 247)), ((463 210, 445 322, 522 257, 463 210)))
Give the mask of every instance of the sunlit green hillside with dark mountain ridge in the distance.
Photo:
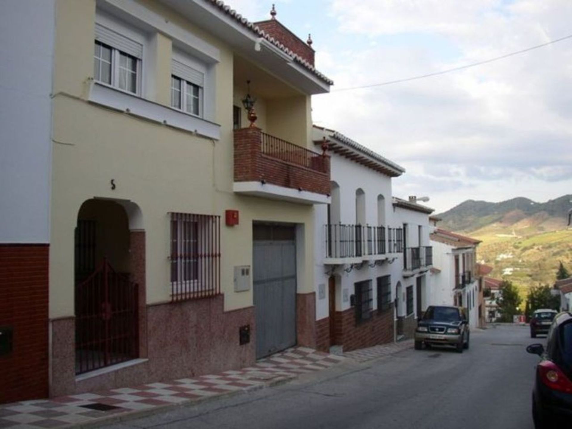
POLYGON ((570 200, 572 195, 545 203, 468 200, 437 216, 440 228, 482 240, 477 259, 493 267, 491 277, 513 281, 524 296, 533 285, 554 283, 559 261, 572 271, 570 200))

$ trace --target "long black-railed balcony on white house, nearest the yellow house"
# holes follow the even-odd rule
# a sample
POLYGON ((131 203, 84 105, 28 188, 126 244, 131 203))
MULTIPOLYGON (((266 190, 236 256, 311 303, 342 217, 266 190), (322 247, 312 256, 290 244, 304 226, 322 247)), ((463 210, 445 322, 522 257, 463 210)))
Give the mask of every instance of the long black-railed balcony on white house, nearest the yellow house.
POLYGON ((386 256, 386 228, 362 225, 324 225, 324 264, 360 264, 386 256))

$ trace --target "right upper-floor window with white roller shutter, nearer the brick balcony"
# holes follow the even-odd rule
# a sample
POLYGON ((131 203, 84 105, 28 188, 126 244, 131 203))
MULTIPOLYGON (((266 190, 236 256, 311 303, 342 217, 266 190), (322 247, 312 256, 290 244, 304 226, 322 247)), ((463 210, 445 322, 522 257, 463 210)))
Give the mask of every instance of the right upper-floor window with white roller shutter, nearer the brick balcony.
POLYGON ((171 61, 171 107, 204 117, 206 68, 189 55, 173 53, 171 61))

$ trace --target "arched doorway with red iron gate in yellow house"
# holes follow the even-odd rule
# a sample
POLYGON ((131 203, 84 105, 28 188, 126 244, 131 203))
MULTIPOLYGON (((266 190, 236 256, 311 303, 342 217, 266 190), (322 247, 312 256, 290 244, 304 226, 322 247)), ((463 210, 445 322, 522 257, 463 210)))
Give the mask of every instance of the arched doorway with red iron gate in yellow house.
POLYGON ((141 220, 138 206, 129 201, 93 198, 78 212, 76 374, 140 356, 140 303, 145 303, 141 220))

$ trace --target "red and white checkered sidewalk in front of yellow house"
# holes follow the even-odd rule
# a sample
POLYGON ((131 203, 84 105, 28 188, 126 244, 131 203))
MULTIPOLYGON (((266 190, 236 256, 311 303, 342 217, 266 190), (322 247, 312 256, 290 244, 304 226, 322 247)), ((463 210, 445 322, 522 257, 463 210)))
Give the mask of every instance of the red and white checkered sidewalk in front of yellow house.
POLYGON ((191 403, 268 386, 300 374, 324 370, 344 359, 343 356, 296 347, 259 360, 255 366, 239 371, 5 404, 0 406, 0 428, 50 428, 92 423, 129 412, 191 403))

